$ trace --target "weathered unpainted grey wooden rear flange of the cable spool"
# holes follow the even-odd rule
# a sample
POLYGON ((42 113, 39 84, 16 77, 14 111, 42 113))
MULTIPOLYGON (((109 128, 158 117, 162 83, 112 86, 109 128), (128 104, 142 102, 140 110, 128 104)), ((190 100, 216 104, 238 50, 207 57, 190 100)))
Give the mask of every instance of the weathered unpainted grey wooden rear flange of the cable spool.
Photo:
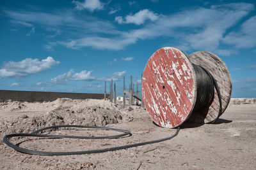
MULTIPOLYGON (((232 92, 232 81, 226 64, 217 55, 211 52, 194 52, 188 55, 188 59, 198 66, 202 66, 214 76, 221 94, 222 113, 226 110, 232 92)), ((214 101, 209 108, 194 111, 189 120, 193 122, 209 123, 218 117, 220 102, 216 89, 214 89, 214 101)))

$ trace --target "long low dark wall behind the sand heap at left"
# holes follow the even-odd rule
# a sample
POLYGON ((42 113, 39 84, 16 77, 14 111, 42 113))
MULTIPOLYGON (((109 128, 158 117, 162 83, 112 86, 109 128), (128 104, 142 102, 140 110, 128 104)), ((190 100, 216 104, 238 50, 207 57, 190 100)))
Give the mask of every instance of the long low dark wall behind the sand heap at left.
MULTIPOLYGON (((109 94, 106 96, 109 97, 109 94)), ((104 99, 104 94, 86 94, 86 93, 61 93, 61 92, 33 92, 0 90, 0 101, 55 101, 58 98, 70 99, 104 99)))

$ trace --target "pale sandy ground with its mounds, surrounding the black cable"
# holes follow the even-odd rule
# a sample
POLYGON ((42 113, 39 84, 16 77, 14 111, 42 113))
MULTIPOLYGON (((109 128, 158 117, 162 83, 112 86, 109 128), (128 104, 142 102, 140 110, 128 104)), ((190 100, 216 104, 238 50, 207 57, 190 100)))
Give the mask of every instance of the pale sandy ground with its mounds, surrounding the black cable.
MULTIPOLYGON (((132 132, 120 139, 11 139, 29 149, 79 151, 165 138, 176 129, 157 127, 139 106, 120 109, 93 99, 5 101, 0 103, 0 117, 0 169, 256 169, 256 104, 230 105, 215 124, 184 124, 178 136, 168 141, 88 155, 28 155, 6 146, 2 139, 4 134, 59 124, 103 125, 132 132)), ((105 136, 117 132, 60 129, 45 134, 105 136)))

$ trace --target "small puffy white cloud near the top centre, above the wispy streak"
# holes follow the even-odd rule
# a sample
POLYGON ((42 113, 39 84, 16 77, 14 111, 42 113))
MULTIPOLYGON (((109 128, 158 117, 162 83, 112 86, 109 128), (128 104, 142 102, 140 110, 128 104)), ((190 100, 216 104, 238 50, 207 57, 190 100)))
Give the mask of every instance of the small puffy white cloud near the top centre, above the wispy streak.
POLYGON ((159 15, 156 13, 145 9, 145 10, 140 10, 138 13, 135 13, 134 15, 126 15, 125 20, 123 17, 116 17, 115 21, 118 22, 118 24, 136 24, 136 25, 141 25, 143 24, 146 20, 151 20, 155 21, 159 15))

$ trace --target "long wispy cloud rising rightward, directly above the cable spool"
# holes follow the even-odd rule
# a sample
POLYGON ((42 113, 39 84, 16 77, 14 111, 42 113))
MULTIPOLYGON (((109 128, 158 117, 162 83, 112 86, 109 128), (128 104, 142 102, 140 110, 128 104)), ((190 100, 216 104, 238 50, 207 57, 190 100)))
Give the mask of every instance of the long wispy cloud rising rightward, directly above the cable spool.
MULTIPOLYGON (((172 43, 186 46, 186 50, 207 50, 221 55, 232 55, 236 54, 236 51, 221 49, 220 42, 227 29, 248 15, 253 8, 253 4, 248 3, 195 8, 174 15, 159 15, 157 20, 140 29, 120 31, 111 38, 99 35, 86 36, 85 38, 61 42, 61 44, 68 48, 90 46, 100 50, 122 50, 125 46, 134 44, 140 39, 166 36, 173 39, 172 43)), ((252 30, 249 31, 252 32, 252 30)))

